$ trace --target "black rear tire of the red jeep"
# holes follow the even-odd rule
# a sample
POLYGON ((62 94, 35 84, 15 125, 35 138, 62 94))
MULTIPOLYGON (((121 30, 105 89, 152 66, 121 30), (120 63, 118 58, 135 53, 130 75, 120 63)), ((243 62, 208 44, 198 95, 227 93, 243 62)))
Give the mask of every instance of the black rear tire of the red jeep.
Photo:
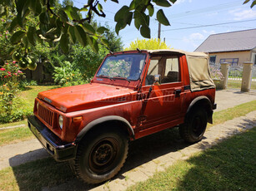
POLYGON ((201 108, 196 108, 188 114, 185 123, 179 126, 179 135, 188 143, 196 143, 203 139, 206 126, 206 111, 201 108))

